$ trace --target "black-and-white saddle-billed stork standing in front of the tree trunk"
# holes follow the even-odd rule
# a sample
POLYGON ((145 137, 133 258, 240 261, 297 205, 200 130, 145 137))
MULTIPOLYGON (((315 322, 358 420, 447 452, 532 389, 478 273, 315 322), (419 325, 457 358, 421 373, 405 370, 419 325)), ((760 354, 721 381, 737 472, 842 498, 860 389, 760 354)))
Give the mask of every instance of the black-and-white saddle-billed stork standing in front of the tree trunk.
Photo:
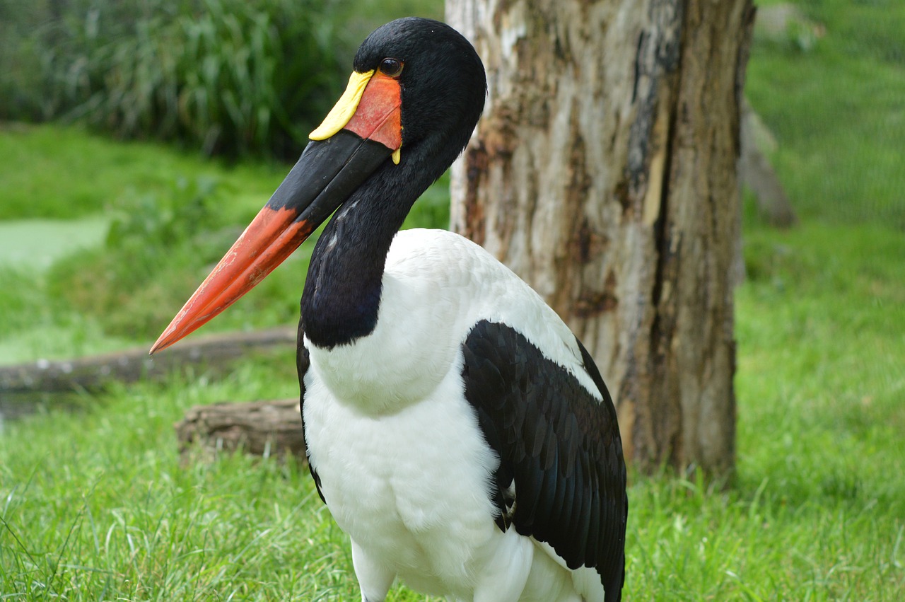
POLYGON ((298 162, 151 353, 328 222, 300 301, 300 411, 362 600, 398 580, 450 600, 612 602, 626 470, 593 358, 478 244, 400 232, 467 145, 486 94, 478 53, 451 26, 409 17, 370 33, 298 162))

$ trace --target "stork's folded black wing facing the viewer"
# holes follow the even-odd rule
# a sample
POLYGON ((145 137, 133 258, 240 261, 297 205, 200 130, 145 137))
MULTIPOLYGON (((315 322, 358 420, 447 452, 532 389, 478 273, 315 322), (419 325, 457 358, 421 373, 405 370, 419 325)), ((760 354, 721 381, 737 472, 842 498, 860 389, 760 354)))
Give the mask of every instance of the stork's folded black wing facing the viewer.
POLYGON ((500 455, 497 524, 546 541, 570 569, 594 567, 606 600, 622 596, 625 463, 613 400, 584 346, 602 402, 505 324, 478 322, 463 343, 465 398, 500 455), (515 483, 515 497, 510 486, 515 483))

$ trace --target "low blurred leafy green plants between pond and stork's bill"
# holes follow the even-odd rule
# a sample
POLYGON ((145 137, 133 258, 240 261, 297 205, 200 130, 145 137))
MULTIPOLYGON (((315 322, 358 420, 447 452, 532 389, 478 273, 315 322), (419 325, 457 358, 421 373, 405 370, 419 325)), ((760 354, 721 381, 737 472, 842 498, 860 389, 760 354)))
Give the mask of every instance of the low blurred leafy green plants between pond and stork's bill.
POLYGON ((179 178, 166 194, 124 196, 103 248, 52 265, 54 299, 96 318, 109 334, 158 334, 241 228, 218 218, 224 194, 213 178, 179 178))

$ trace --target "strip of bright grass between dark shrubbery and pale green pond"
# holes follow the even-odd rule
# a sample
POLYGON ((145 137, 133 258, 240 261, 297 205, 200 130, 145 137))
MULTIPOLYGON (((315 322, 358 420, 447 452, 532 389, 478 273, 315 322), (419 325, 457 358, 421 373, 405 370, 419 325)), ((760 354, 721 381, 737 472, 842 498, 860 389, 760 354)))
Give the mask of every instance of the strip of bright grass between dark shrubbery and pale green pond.
POLYGON ((284 175, 276 164, 227 167, 156 144, 113 144, 74 127, 6 124, 0 133, 0 220, 99 215, 130 196, 166 194, 178 177, 218 179, 230 192, 224 211, 235 219, 260 208, 284 175))

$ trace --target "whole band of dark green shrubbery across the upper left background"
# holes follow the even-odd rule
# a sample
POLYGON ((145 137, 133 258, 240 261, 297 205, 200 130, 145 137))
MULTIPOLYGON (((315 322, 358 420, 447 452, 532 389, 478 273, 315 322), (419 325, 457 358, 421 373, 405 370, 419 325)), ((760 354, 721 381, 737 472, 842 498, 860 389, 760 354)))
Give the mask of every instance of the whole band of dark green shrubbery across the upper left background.
POLYGON ((86 119, 207 154, 292 157, 351 54, 329 0, 12 0, 0 119, 86 119))

